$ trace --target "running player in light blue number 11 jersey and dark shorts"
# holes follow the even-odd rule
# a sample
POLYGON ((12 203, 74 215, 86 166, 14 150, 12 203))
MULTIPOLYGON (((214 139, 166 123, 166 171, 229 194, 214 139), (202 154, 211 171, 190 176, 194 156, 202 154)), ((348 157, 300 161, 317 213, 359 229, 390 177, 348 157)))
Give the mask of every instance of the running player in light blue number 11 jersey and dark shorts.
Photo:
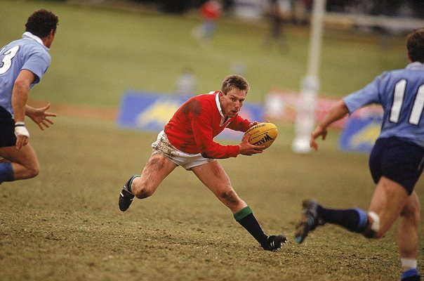
POLYGON ((402 280, 417 281, 418 225, 420 202, 414 190, 424 165, 424 28, 406 39, 409 65, 402 70, 384 72, 374 81, 340 100, 312 132, 310 146, 317 150, 316 138, 326 137, 327 127, 352 114, 359 107, 383 107, 380 136, 371 151, 369 168, 376 190, 368 211, 329 209, 315 200, 303 201, 303 214, 296 226, 296 241, 333 223, 369 238, 380 238, 400 217, 399 253, 402 280))

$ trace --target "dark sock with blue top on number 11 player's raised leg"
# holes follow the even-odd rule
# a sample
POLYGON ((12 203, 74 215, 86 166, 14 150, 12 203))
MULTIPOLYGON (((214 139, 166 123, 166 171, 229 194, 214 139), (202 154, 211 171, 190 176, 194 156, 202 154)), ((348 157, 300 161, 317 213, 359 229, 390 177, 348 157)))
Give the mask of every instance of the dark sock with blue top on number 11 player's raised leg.
POLYGON ((363 233, 368 223, 368 215, 361 209, 327 209, 318 207, 318 216, 326 223, 343 226, 355 233, 363 233))

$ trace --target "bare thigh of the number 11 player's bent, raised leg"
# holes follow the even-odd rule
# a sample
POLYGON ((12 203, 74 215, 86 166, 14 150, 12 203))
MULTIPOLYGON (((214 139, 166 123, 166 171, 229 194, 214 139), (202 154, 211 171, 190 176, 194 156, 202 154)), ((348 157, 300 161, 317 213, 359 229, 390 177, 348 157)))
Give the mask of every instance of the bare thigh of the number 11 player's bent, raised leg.
POLYGON ((399 183, 382 176, 376 186, 369 211, 378 214, 380 228, 376 237, 382 237, 401 214, 409 195, 399 183))

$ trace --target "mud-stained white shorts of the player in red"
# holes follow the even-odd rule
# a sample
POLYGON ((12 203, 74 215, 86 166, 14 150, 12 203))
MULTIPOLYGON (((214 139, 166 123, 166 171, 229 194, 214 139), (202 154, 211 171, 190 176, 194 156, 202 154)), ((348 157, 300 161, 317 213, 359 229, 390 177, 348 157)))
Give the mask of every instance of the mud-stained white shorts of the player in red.
POLYGON ((191 170, 195 166, 200 166, 216 159, 205 158, 200 153, 190 154, 178 150, 168 140, 166 133, 161 131, 157 135, 157 140, 152 143, 152 155, 164 155, 171 162, 182 166, 186 170, 191 170))

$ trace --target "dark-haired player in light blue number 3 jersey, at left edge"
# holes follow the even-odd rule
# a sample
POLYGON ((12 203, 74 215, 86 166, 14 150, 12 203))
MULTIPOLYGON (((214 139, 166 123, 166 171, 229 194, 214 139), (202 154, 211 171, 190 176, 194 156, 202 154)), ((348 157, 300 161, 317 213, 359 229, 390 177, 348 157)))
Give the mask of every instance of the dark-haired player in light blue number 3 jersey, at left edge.
POLYGON ((53 124, 50 104, 27 105, 29 90, 39 83, 50 65, 49 48, 55 37, 58 17, 41 9, 29 16, 22 39, 0 48, 0 183, 33 178, 39 162, 29 145, 25 115, 43 130, 53 124))

